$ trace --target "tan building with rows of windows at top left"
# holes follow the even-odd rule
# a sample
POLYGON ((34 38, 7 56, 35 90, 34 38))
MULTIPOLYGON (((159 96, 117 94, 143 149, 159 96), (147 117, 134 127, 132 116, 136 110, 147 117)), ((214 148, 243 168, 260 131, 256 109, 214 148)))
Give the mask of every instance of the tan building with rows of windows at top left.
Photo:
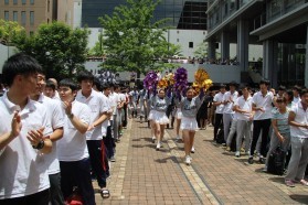
POLYGON ((2 0, 0 19, 17 21, 28 34, 36 31, 41 23, 62 21, 73 25, 75 0, 2 0))

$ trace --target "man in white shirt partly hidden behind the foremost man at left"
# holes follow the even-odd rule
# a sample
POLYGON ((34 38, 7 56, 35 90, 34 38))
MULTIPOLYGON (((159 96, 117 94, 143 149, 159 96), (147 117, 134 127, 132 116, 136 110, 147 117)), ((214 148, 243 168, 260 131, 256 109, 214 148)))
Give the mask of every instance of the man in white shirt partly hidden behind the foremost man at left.
POLYGON ((45 161, 49 165, 50 176, 50 201, 52 205, 64 204, 63 194, 60 185, 60 164, 56 154, 56 141, 63 137, 63 111, 60 100, 49 98, 43 95, 45 89, 45 75, 42 72, 38 74, 38 87, 35 91, 30 96, 34 101, 38 101, 45 106, 49 115, 49 122, 52 126, 53 132, 50 134, 50 139, 53 142, 52 152, 45 155, 45 161))

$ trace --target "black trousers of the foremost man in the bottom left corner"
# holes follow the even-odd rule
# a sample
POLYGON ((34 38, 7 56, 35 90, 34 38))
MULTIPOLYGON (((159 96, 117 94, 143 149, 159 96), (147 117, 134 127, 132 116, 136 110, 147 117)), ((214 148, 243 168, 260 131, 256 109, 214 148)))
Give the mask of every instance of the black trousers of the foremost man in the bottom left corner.
POLYGON ((0 199, 1 205, 49 205, 50 192, 44 190, 28 196, 0 199))

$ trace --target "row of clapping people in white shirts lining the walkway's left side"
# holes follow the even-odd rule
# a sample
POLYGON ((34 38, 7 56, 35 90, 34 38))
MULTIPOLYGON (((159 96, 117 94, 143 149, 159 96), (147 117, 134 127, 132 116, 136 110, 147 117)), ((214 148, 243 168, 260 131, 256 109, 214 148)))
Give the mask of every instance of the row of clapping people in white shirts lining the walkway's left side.
POLYGON ((79 72, 77 83, 46 79, 25 54, 11 56, 2 77, 8 88, 0 98, 0 204, 92 205, 93 180, 109 197, 110 163, 134 91, 102 84, 91 72, 79 72))

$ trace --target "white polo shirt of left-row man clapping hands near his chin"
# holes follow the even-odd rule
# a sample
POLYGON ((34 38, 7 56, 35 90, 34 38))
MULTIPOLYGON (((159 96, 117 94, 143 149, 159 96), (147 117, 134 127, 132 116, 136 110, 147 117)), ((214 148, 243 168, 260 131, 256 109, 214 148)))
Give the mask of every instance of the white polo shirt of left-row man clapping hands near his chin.
MULTIPOLYGON (((64 108, 63 108, 64 112, 64 108)), ((87 105, 79 101, 73 101, 72 114, 81 121, 89 125, 91 109, 87 105)), ((57 141, 59 161, 72 162, 88 158, 86 145, 86 134, 81 133, 71 122, 68 117, 64 116, 63 138, 57 141)))

